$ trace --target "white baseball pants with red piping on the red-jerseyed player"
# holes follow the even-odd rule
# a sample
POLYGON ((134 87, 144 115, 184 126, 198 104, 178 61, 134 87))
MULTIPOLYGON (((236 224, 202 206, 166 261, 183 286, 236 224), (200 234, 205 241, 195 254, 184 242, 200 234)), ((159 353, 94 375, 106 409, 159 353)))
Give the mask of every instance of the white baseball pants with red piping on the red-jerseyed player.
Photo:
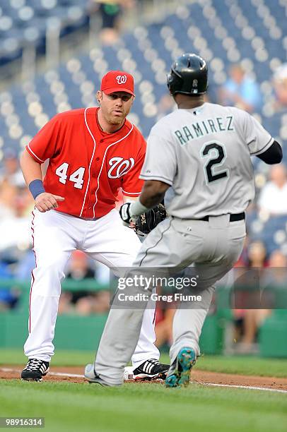
MULTIPOLYGON (((141 248, 135 232, 124 227, 117 210, 95 221, 56 210, 33 211, 33 249, 36 267, 30 289, 29 335, 24 345, 29 359, 50 361, 54 354, 61 280, 72 251, 79 249, 110 268, 128 268, 141 248)), ((134 368, 148 359, 159 359, 154 345, 156 304, 146 309, 139 340, 131 361, 134 368)), ((69 337, 69 335, 67 335, 69 337)), ((92 348, 92 347, 91 347, 92 348)), ((132 353, 131 353, 132 354, 132 353)))

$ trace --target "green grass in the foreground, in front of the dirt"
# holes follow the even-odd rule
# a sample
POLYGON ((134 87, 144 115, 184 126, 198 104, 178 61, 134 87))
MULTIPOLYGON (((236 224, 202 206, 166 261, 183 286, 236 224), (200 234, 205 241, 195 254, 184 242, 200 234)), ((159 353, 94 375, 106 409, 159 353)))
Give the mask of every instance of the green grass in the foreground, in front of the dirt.
POLYGON ((190 385, 102 388, 1 381, 1 416, 44 416, 45 431, 286 431, 287 395, 190 385))

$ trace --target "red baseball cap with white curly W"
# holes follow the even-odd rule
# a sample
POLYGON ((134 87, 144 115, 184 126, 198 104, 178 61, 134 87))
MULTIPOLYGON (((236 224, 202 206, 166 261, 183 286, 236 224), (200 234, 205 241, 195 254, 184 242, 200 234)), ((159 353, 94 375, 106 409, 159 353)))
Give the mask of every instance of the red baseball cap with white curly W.
POLYGON ((113 92, 127 92, 134 96, 134 77, 124 71, 109 71, 102 77, 100 90, 107 95, 113 92))

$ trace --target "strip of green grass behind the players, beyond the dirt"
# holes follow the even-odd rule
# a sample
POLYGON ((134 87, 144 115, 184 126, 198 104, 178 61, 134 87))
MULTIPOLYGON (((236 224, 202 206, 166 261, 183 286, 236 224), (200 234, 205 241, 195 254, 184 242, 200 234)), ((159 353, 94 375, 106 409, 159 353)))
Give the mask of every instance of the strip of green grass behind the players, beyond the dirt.
MULTIPOLYGON (((52 366, 84 366, 91 363, 95 352, 57 350, 52 366)), ((169 363, 168 355, 161 356, 169 363)), ((25 364, 26 357, 20 349, 0 349, 0 364, 25 364)), ((254 356, 201 356, 195 366, 202 371, 240 373, 242 375, 276 376, 287 378, 287 359, 260 359, 254 356)))

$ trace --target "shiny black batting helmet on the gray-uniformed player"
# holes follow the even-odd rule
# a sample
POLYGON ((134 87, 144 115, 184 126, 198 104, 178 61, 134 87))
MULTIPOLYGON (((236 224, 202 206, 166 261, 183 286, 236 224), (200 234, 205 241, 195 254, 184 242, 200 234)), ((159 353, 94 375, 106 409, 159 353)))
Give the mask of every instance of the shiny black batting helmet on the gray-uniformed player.
POLYGON ((185 53, 177 57, 168 73, 171 95, 203 95, 208 87, 208 70, 204 59, 197 54, 185 53))

